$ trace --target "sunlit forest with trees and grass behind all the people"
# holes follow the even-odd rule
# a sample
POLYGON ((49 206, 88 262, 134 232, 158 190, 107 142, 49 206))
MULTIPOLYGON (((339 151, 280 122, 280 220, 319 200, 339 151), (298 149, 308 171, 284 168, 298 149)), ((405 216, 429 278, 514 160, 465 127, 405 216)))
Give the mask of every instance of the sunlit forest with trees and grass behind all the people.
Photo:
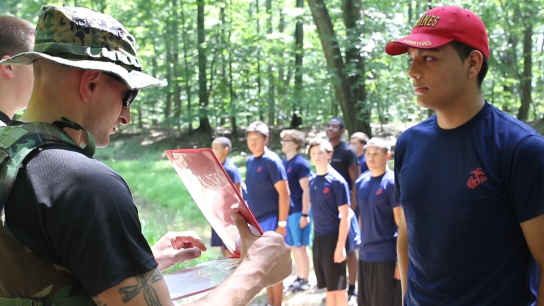
MULTIPOLYGON (((273 128, 277 149, 277 131, 323 131, 332 116, 349 133, 371 136, 431 115, 417 106, 407 57, 387 56, 384 47, 437 5, 460 5, 484 21, 491 49, 484 97, 544 125, 541 0, 1 0, 0 14, 35 23, 45 4, 114 16, 137 38, 144 70, 168 81, 140 92, 132 124, 96 155, 127 180, 150 243, 171 229, 209 237, 164 149, 205 147, 226 134, 244 172, 244 128, 254 120, 273 128)), ((218 256, 207 254, 202 260, 218 256)))

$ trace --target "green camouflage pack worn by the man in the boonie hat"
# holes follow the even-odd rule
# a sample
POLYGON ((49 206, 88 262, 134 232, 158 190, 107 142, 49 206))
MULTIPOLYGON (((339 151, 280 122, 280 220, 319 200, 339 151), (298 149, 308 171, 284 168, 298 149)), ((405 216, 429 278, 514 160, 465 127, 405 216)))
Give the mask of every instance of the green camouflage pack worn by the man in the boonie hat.
POLYGON ((23 123, 0 128, 0 305, 3 306, 68 306, 95 305, 81 284, 62 266, 47 262, 24 246, 5 227, 3 207, 18 170, 34 150, 46 145, 62 144, 92 156, 92 150, 79 147, 62 130, 80 127, 63 119, 54 124, 23 123))

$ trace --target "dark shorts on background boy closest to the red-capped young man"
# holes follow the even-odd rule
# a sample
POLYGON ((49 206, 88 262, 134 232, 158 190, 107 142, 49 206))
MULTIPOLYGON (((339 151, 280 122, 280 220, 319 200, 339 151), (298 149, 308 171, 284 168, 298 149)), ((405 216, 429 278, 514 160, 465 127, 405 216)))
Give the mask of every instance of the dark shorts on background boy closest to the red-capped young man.
POLYGON ((395 279, 395 261, 359 261, 357 304, 401 306, 400 280, 395 279))

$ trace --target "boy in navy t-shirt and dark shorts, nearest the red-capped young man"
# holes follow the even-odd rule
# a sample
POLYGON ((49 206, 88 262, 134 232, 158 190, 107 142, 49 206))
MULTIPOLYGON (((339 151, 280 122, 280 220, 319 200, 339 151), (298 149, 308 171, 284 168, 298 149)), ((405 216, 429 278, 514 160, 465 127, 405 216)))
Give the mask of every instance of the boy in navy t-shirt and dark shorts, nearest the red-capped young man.
POLYGON ((366 146, 369 171, 355 181, 361 240, 357 303, 368 306, 400 306, 397 266, 399 203, 394 200, 394 172, 387 167, 391 145, 373 137, 366 146))

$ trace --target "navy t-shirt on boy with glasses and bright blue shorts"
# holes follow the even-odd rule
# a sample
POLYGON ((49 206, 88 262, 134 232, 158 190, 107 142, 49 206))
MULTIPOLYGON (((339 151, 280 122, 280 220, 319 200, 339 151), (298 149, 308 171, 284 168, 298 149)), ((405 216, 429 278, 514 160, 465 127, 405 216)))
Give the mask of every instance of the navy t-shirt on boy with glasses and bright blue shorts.
POLYGON ((302 188, 300 188, 300 179, 307 178, 311 175, 310 164, 306 158, 297 154, 290 160, 283 158, 283 166, 285 166, 287 172, 289 191, 291 192, 291 206, 289 207, 290 215, 302 211, 302 188))

